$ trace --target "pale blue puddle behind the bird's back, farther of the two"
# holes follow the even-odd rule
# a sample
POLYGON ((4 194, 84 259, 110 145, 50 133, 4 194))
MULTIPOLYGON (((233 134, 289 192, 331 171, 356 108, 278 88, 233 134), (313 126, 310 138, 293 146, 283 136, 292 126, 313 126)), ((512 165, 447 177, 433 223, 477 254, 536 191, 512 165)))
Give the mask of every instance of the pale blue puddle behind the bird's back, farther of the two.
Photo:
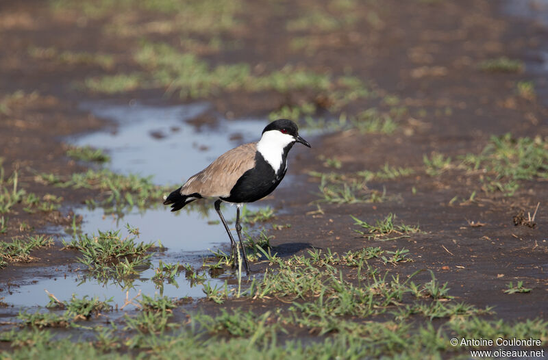
POLYGON ((206 111, 206 104, 158 107, 84 103, 81 108, 114 120, 119 127, 79 136, 71 143, 103 149, 112 158, 108 166, 113 171, 153 175, 159 185, 183 183, 225 151, 259 140, 268 124, 266 120, 219 118, 215 127, 197 129, 186 123, 206 111))

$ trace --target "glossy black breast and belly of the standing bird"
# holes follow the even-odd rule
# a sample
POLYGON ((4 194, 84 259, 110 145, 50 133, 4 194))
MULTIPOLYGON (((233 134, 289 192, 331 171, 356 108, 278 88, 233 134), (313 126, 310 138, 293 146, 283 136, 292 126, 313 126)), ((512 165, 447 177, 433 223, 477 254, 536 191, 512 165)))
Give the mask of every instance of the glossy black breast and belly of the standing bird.
MULTIPOLYGON (((285 155, 285 154, 284 154, 285 155)), ((274 191, 277 185, 286 175, 286 157, 282 156, 282 165, 277 173, 266 162, 264 157, 257 152, 255 155, 255 167, 244 172, 236 185, 230 190, 230 196, 221 198, 229 203, 252 203, 274 191)))

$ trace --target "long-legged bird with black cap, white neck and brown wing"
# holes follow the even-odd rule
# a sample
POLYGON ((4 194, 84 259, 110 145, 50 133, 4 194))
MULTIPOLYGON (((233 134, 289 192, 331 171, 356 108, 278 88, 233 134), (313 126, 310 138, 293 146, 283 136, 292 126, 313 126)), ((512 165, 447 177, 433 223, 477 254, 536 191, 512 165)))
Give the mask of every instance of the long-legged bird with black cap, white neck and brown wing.
POLYGON ((221 213, 221 203, 236 204, 236 233, 242 248, 245 269, 249 274, 249 262, 242 242, 240 207, 264 198, 277 188, 286 175, 288 152, 296 142, 312 147, 299 136, 299 128, 292 120, 275 120, 264 127, 258 142, 242 144, 227 151, 208 167, 188 178, 186 183, 169 196, 164 196, 164 205, 171 205, 171 211, 177 211, 192 201, 215 198, 215 211, 227 231, 230 255, 234 259, 238 249, 221 213))

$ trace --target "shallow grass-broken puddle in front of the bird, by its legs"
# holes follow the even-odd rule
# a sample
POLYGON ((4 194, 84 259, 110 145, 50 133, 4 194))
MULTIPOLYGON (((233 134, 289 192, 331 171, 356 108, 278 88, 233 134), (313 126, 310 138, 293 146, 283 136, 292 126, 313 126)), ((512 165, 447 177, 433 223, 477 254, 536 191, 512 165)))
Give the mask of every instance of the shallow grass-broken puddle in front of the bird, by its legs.
MULTIPOLYGON (((230 208, 227 206, 224 211, 227 218, 231 218, 230 208)), ((136 296, 138 292, 147 296, 157 293, 171 298, 184 296, 198 298, 204 295, 203 285, 191 283, 186 279, 184 271, 175 277, 177 285, 164 282, 163 287, 158 287, 151 280, 155 274, 154 268, 158 268, 158 263, 161 260, 163 263, 178 262, 181 265, 190 263, 193 268, 198 269, 202 265, 203 257, 211 255, 209 249, 222 248, 227 251, 229 248, 229 240, 222 225, 208 224, 208 216, 200 211, 179 211, 178 214, 173 214, 163 208, 135 210, 125 214, 122 218, 104 215, 101 208, 77 209, 75 212, 84 216, 81 226, 83 233, 97 235, 99 230, 120 230, 120 235, 123 238, 133 236, 125 229, 125 224, 131 224, 139 229, 140 234, 136 242, 159 244, 160 241, 166 249, 162 252, 156 251, 151 259, 151 268, 141 272, 139 277, 132 281, 132 286, 127 289, 124 288, 124 283, 115 281, 101 283, 97 279, 88 277, 86 272, 60 271, 57 273, 56 279, 40 279, 37 283, 13 288, 12 294, 5 294, 3 299, 5 303, 24 307, 44 306, 49 300, 44 290, 51 292, 60 300, 70 300, 72 294, 77 294, 79 298, 85 295, 98 296, 99 300, 112 297, 114 304, 119 306, 124 304, 126 291, 129 291, 129 298, 136 296), (188 231, 189 227, 192 231, 188 231)), ((210 211, 209 215, 212 216, 211 220, 215 220, 214 210, 210 211)), ((66 230, 70 232, 69 229, 66 230)), ((66 235, 65 240, 70 241, 71 235, 66 235)), ((75 267, 86 268, 82 264, 73 266, 73 268, 75 267)), ((223 274, 217 279, 211 279, 208 276, 206 282, 221 286, 227 277, 232 277, 232 275, 223 274)), ((132 308, 128 307, 128 309, 132 308)))

